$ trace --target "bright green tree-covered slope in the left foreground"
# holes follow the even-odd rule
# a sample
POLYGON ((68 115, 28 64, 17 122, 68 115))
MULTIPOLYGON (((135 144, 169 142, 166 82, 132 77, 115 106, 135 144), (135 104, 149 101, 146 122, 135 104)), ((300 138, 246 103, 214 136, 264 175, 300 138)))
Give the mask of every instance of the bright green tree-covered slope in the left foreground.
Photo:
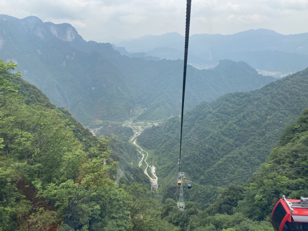
MULTIPOLYGON (((0 59, 0 229, 138 227, 135 216, 153 200, 147 186, 136 183, 148 181, 142 170, 121 162, 129 151, 111 152, 109 140, 97 139, 37 87, 15 78, 19 72, 10 74, 16 66, 0 59), (118 171, 124 172, 119 182, 127 184, 115 188, 118 171)), ((161 226, 173 229, 168 222, 161 226)))

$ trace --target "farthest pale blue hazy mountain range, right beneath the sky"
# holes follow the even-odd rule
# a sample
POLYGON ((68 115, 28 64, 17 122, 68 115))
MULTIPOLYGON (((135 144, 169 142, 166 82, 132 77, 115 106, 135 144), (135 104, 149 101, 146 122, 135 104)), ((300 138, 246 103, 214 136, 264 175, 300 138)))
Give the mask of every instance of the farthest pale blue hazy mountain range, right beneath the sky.
MULTIPOLYGON (((213 65, 221 59, 231 59, 260 70, 296 72, 308 66, 307 41, 308 33, 283 35, 267 29, 229 35, 194 34, 189 38, 188 63, 213 65)), ((172 32, 146 35, 115 46, 161 59, 183 59, 183 43, 184 36, 172 32)))

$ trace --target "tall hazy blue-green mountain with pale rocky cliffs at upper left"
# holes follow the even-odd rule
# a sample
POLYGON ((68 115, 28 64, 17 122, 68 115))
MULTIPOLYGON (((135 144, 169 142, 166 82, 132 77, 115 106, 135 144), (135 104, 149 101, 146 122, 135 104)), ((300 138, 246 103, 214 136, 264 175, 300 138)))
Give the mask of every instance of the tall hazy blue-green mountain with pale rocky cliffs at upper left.
POLYGON ((134 93, 118 68, 101 54, 111 50, 117 55, 110 44, 87 43, 69 24, 43 23, 37 17, 0 18, 2 58, 17 61, 23 78, 58 107, 66 107, 87 125, 93 118, 129 116, 136 104, 134 93), (100 52, 91 52, 94 46, 100 52))

